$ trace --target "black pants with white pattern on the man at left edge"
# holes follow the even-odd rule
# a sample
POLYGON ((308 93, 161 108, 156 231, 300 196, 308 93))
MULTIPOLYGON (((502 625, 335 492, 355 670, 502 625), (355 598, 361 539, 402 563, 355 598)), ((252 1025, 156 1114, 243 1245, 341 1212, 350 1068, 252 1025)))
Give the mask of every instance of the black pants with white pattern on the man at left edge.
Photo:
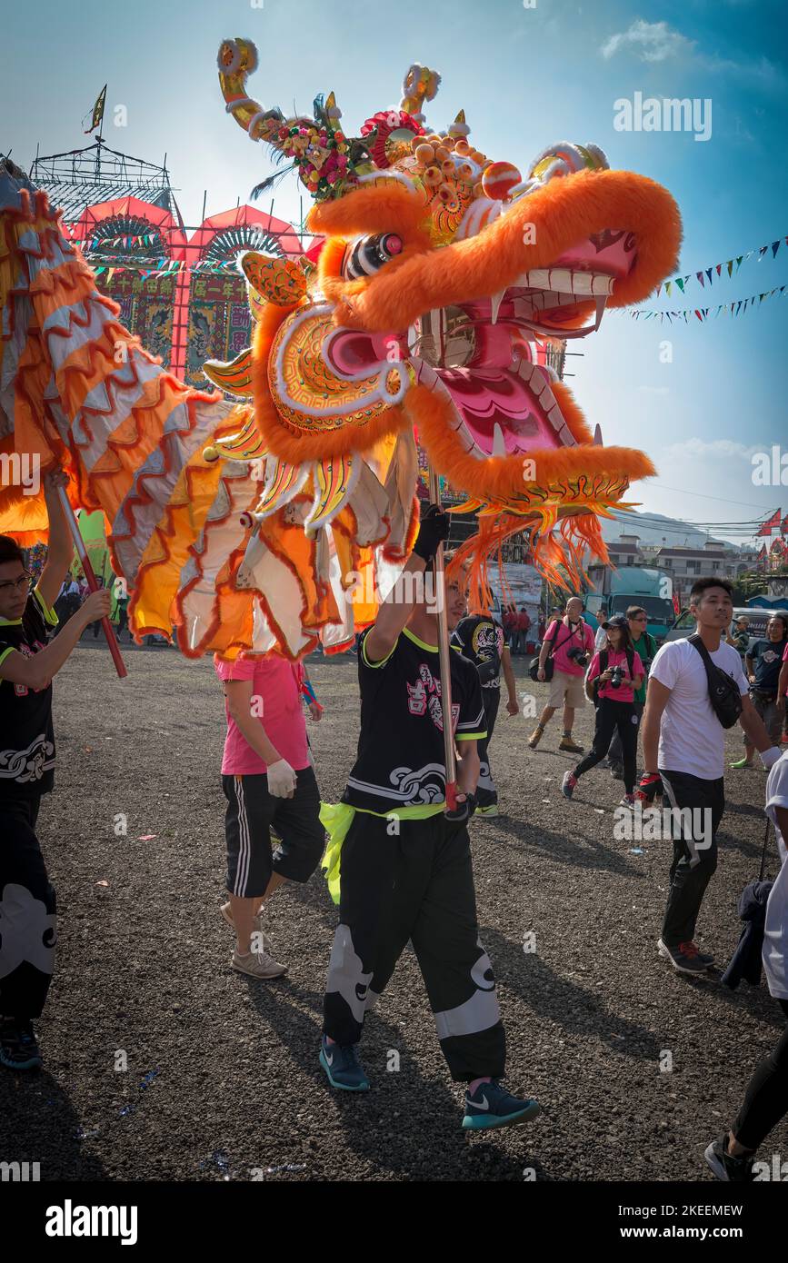
POLYGON ((0 796, 0 1017, 37 1018, 52 971, 57 917, 35 822, 40 794, 0 796))

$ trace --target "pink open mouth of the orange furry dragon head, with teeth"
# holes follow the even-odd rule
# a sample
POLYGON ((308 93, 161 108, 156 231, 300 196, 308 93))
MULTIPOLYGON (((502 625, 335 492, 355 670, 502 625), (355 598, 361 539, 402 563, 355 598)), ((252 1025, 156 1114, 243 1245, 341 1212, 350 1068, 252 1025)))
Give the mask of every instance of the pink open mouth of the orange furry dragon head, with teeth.
POLYGON ((347 380, 408 361, 419 383, 451 400, 457 441, 480 460, 577 447, 553 389, 557 374, 537 362, 539 340, 594 333, 635 261, 634 234, 599 232, 496 294, 427 312, 407 335, 338 328, 323 359, 347 380))

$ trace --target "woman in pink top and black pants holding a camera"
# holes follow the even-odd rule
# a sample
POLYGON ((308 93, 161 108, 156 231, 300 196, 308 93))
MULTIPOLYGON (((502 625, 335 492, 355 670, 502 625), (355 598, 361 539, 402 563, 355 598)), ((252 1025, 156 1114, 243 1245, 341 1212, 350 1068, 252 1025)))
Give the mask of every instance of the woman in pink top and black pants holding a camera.
POLYGON ((585 772, 601 763, 618 733, 624 759, 625 797, 621 806, 631 807, 635 801, 635 774, 638 770, 638 722, 634 690, 640 688, 645 676, 640 655, 633 649, 629 624, 623 614, 614 614, 604 624, 607 640, 604 649, 594 654, 586 676, 586 693, 596 705, 594 744, 573 772, 564 772, 561 792, 571 798, 585 772))

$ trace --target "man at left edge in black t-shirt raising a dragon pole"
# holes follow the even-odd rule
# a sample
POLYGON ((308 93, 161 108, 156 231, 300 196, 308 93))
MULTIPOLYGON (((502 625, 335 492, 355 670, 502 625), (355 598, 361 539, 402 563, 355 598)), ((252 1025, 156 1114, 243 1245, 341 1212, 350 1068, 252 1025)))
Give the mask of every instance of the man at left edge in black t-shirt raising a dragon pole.
POLYGON ((0 1063, 10 1070, 40 1066, 32 1019, 54 965, 54 890, 35 836, 54 782, 52 677, 87 624, 110 610, 110 594, 95 592, 48 643, 72 556, 57 490, 64 482, 59 471, 44 480, 49 551, 34 592, 21 549, 0 536, 0 1063))

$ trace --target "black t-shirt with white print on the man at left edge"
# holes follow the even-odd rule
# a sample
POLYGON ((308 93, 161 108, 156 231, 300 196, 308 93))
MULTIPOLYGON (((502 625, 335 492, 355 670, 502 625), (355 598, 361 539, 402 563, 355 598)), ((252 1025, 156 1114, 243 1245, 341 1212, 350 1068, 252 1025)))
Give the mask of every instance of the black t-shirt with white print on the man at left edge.
MULTIPOLYGON (((0 662, 14 649, 33 657, 47 647, 54 626, 57 615, 32 592, 20 619, 0 620, 0 662)), ((52 685, 37 692, 0 679, 0 801, 49 793, 53 784, 52 685)))

